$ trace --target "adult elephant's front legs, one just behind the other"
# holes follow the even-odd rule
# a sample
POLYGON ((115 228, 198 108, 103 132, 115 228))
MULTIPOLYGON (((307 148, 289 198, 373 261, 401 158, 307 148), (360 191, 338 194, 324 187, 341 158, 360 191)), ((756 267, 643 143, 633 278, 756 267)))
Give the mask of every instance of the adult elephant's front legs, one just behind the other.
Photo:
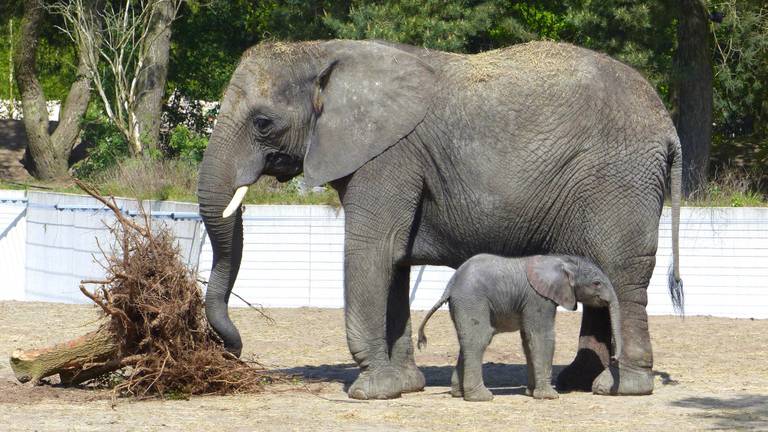
POLYGON ((409 269, 401 266, 423 189, 418 174, 385 152, 340 185, 344 206, 347 343, 360 366, 356 399, 390 399, 423 388, 413 361, 409 269))

